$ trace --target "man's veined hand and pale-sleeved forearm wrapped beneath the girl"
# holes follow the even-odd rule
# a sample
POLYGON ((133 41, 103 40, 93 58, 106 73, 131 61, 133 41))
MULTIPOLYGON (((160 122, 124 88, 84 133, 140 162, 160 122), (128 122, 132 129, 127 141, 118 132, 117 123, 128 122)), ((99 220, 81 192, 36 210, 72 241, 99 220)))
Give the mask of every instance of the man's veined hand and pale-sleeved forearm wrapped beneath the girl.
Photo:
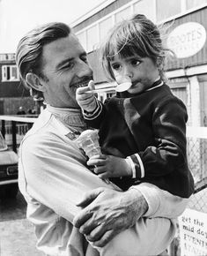
POLYGON ((152 184, 138 184, 127 192, 100 188, 85 194, 82 211, 74 225, 95 246, 107 245, 116 234, 136 224, 141 217, 175 218, 188 203, 152 184))

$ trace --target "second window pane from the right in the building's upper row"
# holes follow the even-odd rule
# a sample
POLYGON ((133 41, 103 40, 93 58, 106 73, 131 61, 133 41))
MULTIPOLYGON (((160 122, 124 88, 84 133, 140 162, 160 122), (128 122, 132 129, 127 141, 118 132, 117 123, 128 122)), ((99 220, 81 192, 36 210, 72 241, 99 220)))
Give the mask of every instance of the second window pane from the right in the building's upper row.
POLYGON ((157 0, 157 21, 173 17, 181 13, 181 0, 157 0))

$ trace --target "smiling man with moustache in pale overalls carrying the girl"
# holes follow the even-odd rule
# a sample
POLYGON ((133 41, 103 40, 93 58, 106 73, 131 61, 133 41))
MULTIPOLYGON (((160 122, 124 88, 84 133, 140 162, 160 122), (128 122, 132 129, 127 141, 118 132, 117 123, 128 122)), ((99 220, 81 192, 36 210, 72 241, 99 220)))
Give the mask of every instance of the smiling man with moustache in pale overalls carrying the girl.
POLYGON ((34 29, 19 41, 16 59, 25 86, 47 104, 19 149, 19 188, 37 247, 67 256, 163 252, 188 200, 146 183, 121 192, 85 168, 74 139, 87 127, 75 94, 92 70, 70 27, 34 29))

